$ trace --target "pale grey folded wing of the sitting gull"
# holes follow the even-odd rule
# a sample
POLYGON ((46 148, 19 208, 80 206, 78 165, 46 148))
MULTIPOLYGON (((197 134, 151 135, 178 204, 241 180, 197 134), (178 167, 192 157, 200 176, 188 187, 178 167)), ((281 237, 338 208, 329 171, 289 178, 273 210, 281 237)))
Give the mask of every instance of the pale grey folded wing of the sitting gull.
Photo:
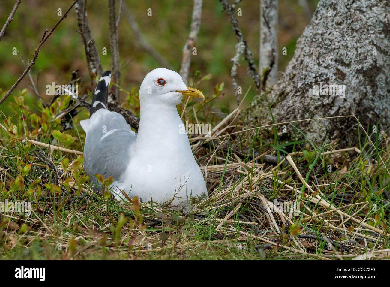
POLYGON ((130 162, 130 147, 137 134, 121 114, 99 109, 82 121, 87 133, 84 146, 84 169, 88 175, 101 174, 121 182, 130 162))

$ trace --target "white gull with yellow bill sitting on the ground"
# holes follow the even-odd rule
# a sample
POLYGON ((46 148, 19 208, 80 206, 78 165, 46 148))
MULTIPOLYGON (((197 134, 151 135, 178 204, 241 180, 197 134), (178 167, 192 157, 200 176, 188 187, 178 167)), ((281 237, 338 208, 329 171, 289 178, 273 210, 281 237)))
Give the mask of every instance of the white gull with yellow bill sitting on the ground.
POLYGON ((202 172, 183 132, 176 106, 183 96, 204 99, 181 76, 165 68, 152 70, 140 86, 140 122, 136 134, 124 117, 107 109, 111 71, 96 86, 90 118, 80 121, 85 130, 84 169, 97 185, 95 175, 112 176, 117 199, 137 196, 140 201, 185 206, 191 197, 207 198, 202 172))

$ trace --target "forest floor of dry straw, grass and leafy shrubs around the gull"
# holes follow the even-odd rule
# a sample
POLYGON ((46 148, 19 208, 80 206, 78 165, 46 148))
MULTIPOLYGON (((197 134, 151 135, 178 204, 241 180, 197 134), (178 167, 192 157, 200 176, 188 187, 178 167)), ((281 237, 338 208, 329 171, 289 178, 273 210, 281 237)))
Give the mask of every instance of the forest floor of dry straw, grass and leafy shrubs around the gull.
POLYGON ((1 259, 390 258, 385 133, 372 142, 360 130, 345 148, 267 142, 254 129, 248 142, 236 110, 190 140, 209 198, 176 210, 94 193, 78 119, 63 130, 69 99, 33 112, 22 96, 0 121, 1 259), (27 210, 6 208, 16 201, 27 210))

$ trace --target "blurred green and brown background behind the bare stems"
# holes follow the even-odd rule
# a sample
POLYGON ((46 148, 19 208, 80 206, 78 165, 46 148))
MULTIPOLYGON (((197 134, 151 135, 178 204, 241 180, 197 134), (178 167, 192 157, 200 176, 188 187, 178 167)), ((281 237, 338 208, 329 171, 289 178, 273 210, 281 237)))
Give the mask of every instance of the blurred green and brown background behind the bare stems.
MULTIPOLYGON (((138 26, 145 40, 157 50, 178 72, 181 64, 183 45, 188 37, 193 1, 179 0, 123 0, 138 22, 138 26), (147 9, 152 9, 152 16, 147 16, 147 9)), ((303 2, 305 2, 304 0, 303 2)), ((232 1, 230 1, 232 2, 232 1)), ((279 0, 279 30, 278 30, 278 70, 283 71, 293 57, 296 40, 307 26, 310 18, 300 5, 302 0, 279 0), (287 55, 282 55, 282 48, 287 48, 287 55)), ((311 12, 314 11, 318 0, 308 0, 311 12)), ((1 0, 0 25, 4 25, 15 1, 1 0)), ((57 9, 64 13, 71 5, 72 0, 23 0, 16 11, 14 21, 9 25, 0 42, 0 92, 2 95, 14 84, 23 72, 23 66, 18 55, 12 55, 12 48, 16 47, 25 62, 32 58, 33 51, 43 36, 45 29, 51 29, 58 21, 57 9)), ((117 0, 117 11, 119 0, 117 0)), ((238 8, 242 9, 242 16, 237 16, 239 27, 243 31, 248 45, 255 55, 258 66, 259 59, 259 0, 243 0, 238 8)), ((100 52, 100 59, 104 70, 111 69, 110 43, 108 35, 108 2, 105 0, 89 0, 87 14, 100 52), (102 49, 107 48, 107 55, 102 49)), ((309 15, 310 16, 310 15, 309 15)), ((50 101, 46 96, 46 84, 66 84, 71 78, 71 70, 78 69, 78 77, 83 78, 83 87, 79 93, 83 94, 91 89, 88 69, 85 61, 83 41, 78 30, 74 9, 57 27, 52 36, 43 45, 39 57, 31 69, 32 77, 37 80, 39 73, 38 90, 41 97, 50 101)), ((119 51, 121 63, 132 60, 121 70, 121 86, 130 91, 140 86, 145 75, 159 67, 158 62, 144 50, 133 36, 126 16, 122 12, 118 28, 119 51)), ((225 83, 225 95, 215 102, 214 108, 224 107, 230 111, 236 107, 232 79, 230 77, 230 59, 235 55, 236 37, 231 30, 226 12, 218 0, 204 0, 202 9, 202 23, 199 39, 196 44, 197 55, 192 56, 190 77, 199 70, 202 75, 212 74, 209 81, 203 82, 199 89, 206 95, 213 94, 216 84, 225 83)), ((243 87, 243 94, 250 85, 246 103, 250 102, 256 91, 250 77, 246 75, 246 62, 241 61, 238 73, 238 84, 243 87)), ((30 86, 26 76, 14 91, 18 96, 23 88, 30 86)), ((241 97, 243 96, 241 95, 241 97)), ((122 94, 122 97, 125 97, 122 94)), ((26 94, 25 102, 34 101, 30 89, 26 94)), ((10 96, 7 102, 13 101, 10 96)), ((0 109, 7 112, 7 102, 0 109)))

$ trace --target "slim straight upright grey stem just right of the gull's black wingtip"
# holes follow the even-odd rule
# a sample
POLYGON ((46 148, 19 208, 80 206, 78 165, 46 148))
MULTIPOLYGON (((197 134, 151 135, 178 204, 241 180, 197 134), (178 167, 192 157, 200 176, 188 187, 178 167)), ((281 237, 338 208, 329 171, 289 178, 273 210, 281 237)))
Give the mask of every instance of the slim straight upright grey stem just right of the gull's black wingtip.
MULTIPOLYGON (((115 0, 108 0, 108 22, 110 24, 110 48, 113 81, 118 86, 121 86, 121 70, 119 68, 119 45, 115 14, 115 0)), ((117 98, 117 101, 120 103, 121 97, 119 95, 119 88, 117 86, 114 86, 114 94, 117 98)))

